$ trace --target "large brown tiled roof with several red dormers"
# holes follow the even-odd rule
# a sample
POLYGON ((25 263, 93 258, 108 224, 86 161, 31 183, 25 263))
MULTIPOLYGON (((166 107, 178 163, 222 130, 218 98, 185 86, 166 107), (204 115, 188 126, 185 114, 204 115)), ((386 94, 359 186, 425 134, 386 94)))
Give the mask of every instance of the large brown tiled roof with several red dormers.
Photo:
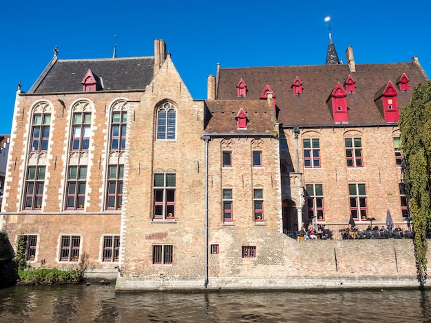
POLYGON ((238 102, 259 100, 266 85, 275 94, 278 115, 284 126, 334 126, 330 94, 337 82, 344 87, 349 75, 355 80, 356 93, 347 96, 349 124, 386 124, 375 102, 379 89, 391 80, 398 91, 399 107, 411 96, 414 85, 425 82, 419 63, 356 64, 350 72, 348 65, 303 65, 278 67, 221 68, 216 84, 218 100, 238 102), (400 92, 395 80, 403 73, 410 79, 410 92, 400 92), (303 93, 293 95, 292 84, 296 77, 302 81, 303 93), (246 97, 237 98, 236 85, 240 79, 246 83, 246 97))

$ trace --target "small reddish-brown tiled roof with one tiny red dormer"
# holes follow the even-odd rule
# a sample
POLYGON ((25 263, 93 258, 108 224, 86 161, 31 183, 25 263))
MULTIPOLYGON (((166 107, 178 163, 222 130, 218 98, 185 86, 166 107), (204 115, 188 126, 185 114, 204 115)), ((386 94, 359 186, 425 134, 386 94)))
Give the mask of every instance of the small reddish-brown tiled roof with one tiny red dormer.
MULTIPOLYGON (((236 93, 236 92, 235 92, 236 93)), ((204 133, 271 133, 273 113, 267 100, 207 100, 204 133), (247 118, 247 129, 238 129, 235 119, 240 109, 247 118)))

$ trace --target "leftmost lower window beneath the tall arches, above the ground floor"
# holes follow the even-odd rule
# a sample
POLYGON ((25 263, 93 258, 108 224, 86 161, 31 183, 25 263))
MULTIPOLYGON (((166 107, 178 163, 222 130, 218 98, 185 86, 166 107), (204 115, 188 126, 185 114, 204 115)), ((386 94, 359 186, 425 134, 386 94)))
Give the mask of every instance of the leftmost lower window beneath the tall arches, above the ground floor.
POLYGON ((45 166, 28 166, 25 179, 25 210, 41 210, 44 183, 45 166))

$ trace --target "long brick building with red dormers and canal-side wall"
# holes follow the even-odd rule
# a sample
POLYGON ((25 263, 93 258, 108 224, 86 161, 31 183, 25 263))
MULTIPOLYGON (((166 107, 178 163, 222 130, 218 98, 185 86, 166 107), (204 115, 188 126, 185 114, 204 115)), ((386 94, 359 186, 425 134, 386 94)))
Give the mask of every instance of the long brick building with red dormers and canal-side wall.
POLYGON ((142 58, 55 51, 17 93, 1 227, 35 267, 87 254, 118 290, 413 286, 411 240, 295 239, 350 215, 407 224, 398 111, 428 76, 346 56, 330 38, 326 65, 218 65, 197 101, 163 41, 142 58))

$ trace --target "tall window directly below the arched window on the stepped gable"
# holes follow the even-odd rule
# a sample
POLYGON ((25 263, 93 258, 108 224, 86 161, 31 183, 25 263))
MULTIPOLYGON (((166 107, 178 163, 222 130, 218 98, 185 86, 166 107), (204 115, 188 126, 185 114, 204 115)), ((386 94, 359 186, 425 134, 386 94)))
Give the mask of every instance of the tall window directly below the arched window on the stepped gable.
POLYGON ((154 219, 175 219, 175 174, 154 174, 154 219))

